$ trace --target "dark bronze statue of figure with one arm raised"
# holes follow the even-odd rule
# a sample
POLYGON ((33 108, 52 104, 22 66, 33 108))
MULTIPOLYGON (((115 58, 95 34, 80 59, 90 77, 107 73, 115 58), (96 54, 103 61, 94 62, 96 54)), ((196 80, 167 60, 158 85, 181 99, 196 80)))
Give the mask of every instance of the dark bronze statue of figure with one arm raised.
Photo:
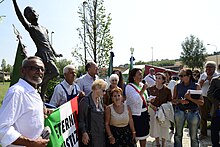
POLYGON ((21 11, 19 10, 16 0, 13 0, 13 4, 18 19, 25 27, 25 29, 29 32, 32 40, 37 47, 37 52, 35 55, 43 60, 46 68, 45 76, 41 84, 41 98, 45 101, 47 83, 49 82, 49 80, 59 75, 59 71, 54 63, 55 57, 62 57, 62 54, 57 54, 54 51, 49 41, 48 30, 38 24, 39 15, 36 13, 36 11, 29 6, 24 9, 24 16, 29 22, 28 23, 23 17, 21 11))

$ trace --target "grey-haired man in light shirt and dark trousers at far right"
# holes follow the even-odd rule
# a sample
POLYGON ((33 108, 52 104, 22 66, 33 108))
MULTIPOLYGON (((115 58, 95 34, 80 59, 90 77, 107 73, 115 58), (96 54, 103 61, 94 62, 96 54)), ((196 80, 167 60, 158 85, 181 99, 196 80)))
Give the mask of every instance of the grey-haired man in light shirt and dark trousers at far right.
POLYGON ((217 76, 216 63, 214 61, 207 61, 205 64, 205 72, 201 74, 198 83, 202 88, 202 96, 204 99, 204 105, 200 106, 200 139, 204 139, 207 136, 207 121, 211 109, 211 101, 207 97, 207 91, 210 86, 213 77, 217 76))

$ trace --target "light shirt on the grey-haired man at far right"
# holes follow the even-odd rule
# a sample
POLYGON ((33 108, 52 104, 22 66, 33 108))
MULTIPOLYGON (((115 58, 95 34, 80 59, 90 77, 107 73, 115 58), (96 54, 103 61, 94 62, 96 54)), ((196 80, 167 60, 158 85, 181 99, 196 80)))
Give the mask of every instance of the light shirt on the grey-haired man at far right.
MULTIPOLYGON (((218 76, 219 74, 217 73, 217 72, 215 72, 213 75, 212 75, 212 77, 216 77, 216 76, 218 76)), ((199 82, 201 81, 201 80, 205 80, 205 82, 203 83, 203 85, 202 85, 202 96, 205 96, 205 97, 207 97, 207 91, 208 91, 208 88, 209 88, 209 85, 210 85, 210 82, 211 81, 209 81, 208 79, 206 79, 207 78, 207 74, 206 74, 206 72, 204 72, 204 73, 202 73, 201 74, 201 76, 200 76, 200 78, 199 78, 199 82)), ((199 83, 198 82, 198 83, 199 83)))

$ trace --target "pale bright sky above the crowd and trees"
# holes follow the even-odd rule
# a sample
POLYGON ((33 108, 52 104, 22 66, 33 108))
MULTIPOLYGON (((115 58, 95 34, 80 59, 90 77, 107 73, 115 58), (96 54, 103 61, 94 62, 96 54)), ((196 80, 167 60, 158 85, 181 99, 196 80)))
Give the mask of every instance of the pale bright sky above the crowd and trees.
MULTIPOLYGON (((77 62, 71 55, 79 44, 80 27, 77 14, 82 0, 17 0, 23 12, 32 6, 40 15, 39 24, 49 32, 54 31, 53 47, 63 58, 77 62)), ((111 13, 111 34, 114 66, 129 63, 130 47, 134 47, 136 61, 179 58, 181 43, 190 34, 204 44, 210 43, 220 50, 220 1, 219 0, 106 0, 106 12, 111 13)), ((28 55, 34 55, 36 47, 28 32, 19 22, 12 0, 0 4, 0 62, 4 58, 13 65, 18 42, 12 24, 20 31, 28 55)), ((216 50, 206 46, 208 53, 216 50)), ((82 53, 83 54, 83 53, 82 53)))

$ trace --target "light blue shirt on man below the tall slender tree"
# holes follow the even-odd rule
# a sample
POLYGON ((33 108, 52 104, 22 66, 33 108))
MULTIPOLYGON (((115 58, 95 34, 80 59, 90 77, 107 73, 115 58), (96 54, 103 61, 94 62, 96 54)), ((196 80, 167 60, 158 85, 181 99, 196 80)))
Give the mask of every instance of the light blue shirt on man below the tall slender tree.
POLYGON ((85 95, 88 95, 92 91, 92 83, 97 79, 97 75, 95 75, 94 79, 87 73, 81 76, 79 79, 77 79, 76 83, 80 87, 80 90, 84 91, 85 95))

